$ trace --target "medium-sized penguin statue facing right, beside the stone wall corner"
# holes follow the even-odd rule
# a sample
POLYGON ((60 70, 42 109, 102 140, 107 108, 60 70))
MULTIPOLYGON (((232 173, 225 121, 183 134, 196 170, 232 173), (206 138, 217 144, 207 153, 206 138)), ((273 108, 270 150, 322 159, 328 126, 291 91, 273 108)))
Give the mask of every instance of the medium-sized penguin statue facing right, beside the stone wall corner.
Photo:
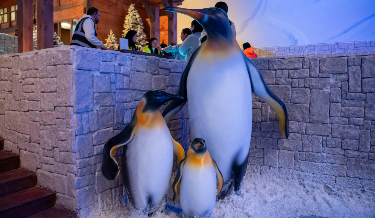
POLYGON ((120 174, 114 152, 124 145, 122 182, 132 210, 144 216, 159 206, 164 208, 170 187, 173 153, 177 157, 177 164, 185 156, 159 111, 160 106, 172 99, 183 97, 160 90, 146 92, 131 122, 104 145, 102 174, 108 180, 120 174))

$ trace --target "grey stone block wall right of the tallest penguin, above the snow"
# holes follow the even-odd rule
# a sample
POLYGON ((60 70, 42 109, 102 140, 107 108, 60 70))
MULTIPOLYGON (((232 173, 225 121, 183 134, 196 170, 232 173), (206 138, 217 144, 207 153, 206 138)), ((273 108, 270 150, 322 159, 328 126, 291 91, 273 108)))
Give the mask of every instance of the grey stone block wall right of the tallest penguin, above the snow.
POLYGON ((290 120, 284 139, 275 111, 253 94, 252 172, 375 189, 375 52, 251 60, 290 120))

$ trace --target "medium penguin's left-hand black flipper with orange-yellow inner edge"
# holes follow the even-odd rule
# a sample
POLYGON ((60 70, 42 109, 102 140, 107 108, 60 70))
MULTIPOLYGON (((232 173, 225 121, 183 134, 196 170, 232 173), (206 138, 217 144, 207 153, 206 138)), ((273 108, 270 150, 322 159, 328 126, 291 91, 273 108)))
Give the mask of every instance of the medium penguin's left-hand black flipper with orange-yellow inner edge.
MULTIPOLYGON (((125 128, 116 136, 112 137, 105 143, 103 148, 103 162, 102 162, 102 174, 104 178, 113 180, 120 174, 117 160, 114 157, 115 150, 118 147, 128 144, 132 141, 134 136, 134 126, 129 123, 125 128)), ((126 149, 123 150, 126 152, 126 149)))

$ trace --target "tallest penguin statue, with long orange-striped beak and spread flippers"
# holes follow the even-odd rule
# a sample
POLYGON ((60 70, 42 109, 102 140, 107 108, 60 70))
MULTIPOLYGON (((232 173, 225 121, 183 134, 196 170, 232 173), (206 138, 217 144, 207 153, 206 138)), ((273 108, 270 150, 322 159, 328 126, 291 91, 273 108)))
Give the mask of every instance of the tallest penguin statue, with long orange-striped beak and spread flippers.
POLYGON ((175 99, 163 111, 168 123, 189 101, 190 138, 204 138, 223 179, 240 195, 248 165, 252 128, 252 92, 279 116, 280 131, 289 134, 285 104, 273 94, 259 69, 245 56, 233 36, 228 16, 219 8, 164 10, 189 15, 207 32, 207 40, 191 56, 175 99))

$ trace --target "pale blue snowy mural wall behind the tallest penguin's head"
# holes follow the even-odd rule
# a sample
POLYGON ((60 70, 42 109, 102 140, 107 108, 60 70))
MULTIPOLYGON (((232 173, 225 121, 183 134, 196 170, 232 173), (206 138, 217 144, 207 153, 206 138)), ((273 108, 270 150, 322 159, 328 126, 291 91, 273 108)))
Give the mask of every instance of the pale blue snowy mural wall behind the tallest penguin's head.
MULTIPOLYGON (((184 8, 213 7, 219 0, 184 1, 184 8)), ((237 41, 272 47, 375 39, 374 0, 231 0, 228 17, 237 41)), ((178 16, 178 30, 191 18, 178 16)), ((181 43, 181 39, 178 38, 181 43)))

